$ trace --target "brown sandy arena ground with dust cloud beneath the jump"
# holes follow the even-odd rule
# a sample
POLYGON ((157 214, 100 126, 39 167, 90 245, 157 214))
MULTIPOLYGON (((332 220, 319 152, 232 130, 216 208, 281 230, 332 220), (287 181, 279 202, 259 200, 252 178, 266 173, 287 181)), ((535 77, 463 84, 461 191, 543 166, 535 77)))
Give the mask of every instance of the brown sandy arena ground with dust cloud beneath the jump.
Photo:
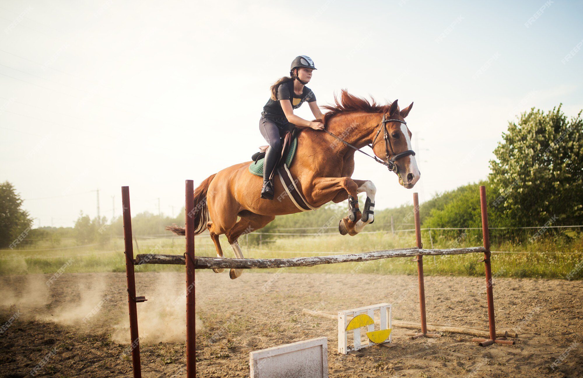
MULTIPOLYGON (((419 321, 416 276, 362 274, 196 274, 199 377, 248 377, 249 352, 328 337, 330 377, 581 377, 583 282, 497 278, 498 330, 516 345, 482 348, 472 336, 408 340, 394 328, 394 348, 340 355, 334 320, 302 309, 336 311, 388 302, 397 320, 419 321), (556 365, 553 365, 556 363, 556 365), (554 369, 553 369, 554 368, 554 369)), ((0 277, 0 375, 131 377, 124 273, 0 277), (48 281, 48 285, 47 285, 48 281), (17 317, 15 319, 15 317, 17 317), (12 318, 12 321, 10 321, 12 318), (8 322, 8 323, 5 323, 8 322), (12 323, 12 324, 10 324, 12 323), (6 328, 6 327, 4 327, 6 328)), ((185 376, 184 274, 136 273, 142 375, 185 376)), ((483 278, 425 279, 427 321, 487 328, 483 278)))

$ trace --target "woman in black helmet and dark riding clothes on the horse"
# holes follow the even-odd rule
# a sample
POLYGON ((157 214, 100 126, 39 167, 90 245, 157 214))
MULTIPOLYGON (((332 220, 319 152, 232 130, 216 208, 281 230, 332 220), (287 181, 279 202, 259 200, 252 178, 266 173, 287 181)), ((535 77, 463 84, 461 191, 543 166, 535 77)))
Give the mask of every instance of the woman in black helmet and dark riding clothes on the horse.
POLYGON ((314 69, 316 68, 311 58, 300 55, 291 62, 290 76, 280 78, 271 86, 271 98, 263 107, 259 119, 259 131, 269 143, 269 148, 265 153, 261 198, 273 199, 273 182, 269 180, 269 176, 281 153, 280 138, 290 129, 290 126, 324 129, 321 122, 306 121, 293 114, 294 109, 307 101, 315 119, 322 119, 322 112, 318 108, 314 92, 305 86, 310 82, 314 69))

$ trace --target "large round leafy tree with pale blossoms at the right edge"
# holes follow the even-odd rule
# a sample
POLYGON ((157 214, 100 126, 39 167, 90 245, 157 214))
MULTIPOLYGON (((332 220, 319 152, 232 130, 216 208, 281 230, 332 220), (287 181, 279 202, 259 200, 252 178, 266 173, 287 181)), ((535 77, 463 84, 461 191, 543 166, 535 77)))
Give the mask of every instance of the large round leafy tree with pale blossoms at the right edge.
POLYGON ((498 206, 521 226, 583 221, 583 122, 568 120, 561 106, 544 113, 532 108, 510 122, 490 161, 498 206))

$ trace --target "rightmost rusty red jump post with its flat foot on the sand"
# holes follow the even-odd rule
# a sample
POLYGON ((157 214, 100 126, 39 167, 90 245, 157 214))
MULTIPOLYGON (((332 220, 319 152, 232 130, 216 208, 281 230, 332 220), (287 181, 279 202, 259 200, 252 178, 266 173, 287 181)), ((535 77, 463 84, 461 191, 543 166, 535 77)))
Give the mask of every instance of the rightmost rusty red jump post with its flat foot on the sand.
POLYGON ((492 265, 490 262, 490 232, 488 229, 488 206, 486 204, 486 187, 480 186, 480 212, 482 213, 482 235, 484 238, 484 258, 479 261, 484 262, 486 270, 486 294, 488 300, 488 326, 490 338, 473 338, 472 341, 478 342, 480 347, 487 347, 496 342, 496 344, 514 345, 515 342, 507 340, 505 337, 496 338, 496 319, 494 318, 494 290, 492 288, 492 265))

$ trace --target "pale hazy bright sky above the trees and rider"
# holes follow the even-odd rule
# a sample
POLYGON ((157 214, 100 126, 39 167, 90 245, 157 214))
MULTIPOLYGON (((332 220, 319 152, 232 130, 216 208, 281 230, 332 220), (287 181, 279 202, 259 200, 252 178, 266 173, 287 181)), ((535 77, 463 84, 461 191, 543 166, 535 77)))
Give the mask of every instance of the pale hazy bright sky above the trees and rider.
POLYGON ((352 177, 375 183, 377 209, 427 201, 486 178, 521 112, 583 108, 582 14, 558 0, 0 0, 0 181, 35 226, 94 218, 97 190, 119 216, 124 185, 132 214, 176 216, 184 180, 265 144, 269 86, 308 55, 319 105, 343 88, 415 103, 415 187, 364 155, 352 177))

